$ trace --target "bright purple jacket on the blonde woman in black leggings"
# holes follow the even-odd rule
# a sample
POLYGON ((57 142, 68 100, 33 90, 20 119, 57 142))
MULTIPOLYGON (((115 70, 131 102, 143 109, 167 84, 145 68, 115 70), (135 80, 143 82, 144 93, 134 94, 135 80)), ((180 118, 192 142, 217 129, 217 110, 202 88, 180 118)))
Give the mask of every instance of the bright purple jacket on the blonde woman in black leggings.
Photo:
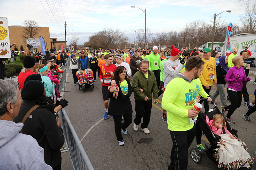
POLYGON ((236 91, 242 91, 243 88, 243 81, 248 82, 251 78, 246 78, 244 67, 238 67, 234 66, 231 67, 228 72, 227 76, 225 78, 225 82, 228 83, 228 88, 234 89, 236 91), (239 74, 239 77, 237 76, 239 74))

